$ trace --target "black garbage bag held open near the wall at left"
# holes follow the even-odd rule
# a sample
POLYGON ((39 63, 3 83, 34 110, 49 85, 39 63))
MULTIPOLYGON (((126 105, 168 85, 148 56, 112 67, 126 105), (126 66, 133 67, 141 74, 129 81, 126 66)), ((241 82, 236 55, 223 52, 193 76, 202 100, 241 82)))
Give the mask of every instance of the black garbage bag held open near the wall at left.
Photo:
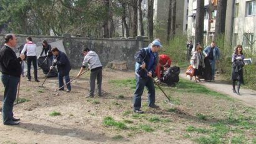
POLYGON ((50 67, 52 65, 52 60, 50 59, 50 57, 47 57, 47 55, 39 57, 37 59, 37 64, 39 67, 41 67, 42 72, 46 74, 46 77, 57 77, 58 72, 55 69, 55 67, 51 70, 51 72, 49 72, 50 67))

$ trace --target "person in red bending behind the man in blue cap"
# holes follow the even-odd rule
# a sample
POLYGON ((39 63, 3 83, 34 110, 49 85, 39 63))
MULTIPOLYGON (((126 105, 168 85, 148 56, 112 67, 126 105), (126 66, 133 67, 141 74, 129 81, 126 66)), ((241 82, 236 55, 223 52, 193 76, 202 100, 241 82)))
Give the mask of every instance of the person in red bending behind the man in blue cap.
POLYGON ((155 74, 157 75, 157 79, 160 80, 161 77, 164 76, 164 71, 170 67, 172 60, 170 60, 169 55, 160 54, 159 61, 157 67, 155 67, 155 74))

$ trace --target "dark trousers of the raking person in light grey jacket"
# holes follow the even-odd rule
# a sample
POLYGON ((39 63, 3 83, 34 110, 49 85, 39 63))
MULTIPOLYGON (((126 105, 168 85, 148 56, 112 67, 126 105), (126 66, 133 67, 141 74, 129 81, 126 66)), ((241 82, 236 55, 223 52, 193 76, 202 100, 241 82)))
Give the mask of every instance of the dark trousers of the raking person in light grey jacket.
POLYGON ((102 83, 102 69, 91 71, 90 75, 90 96, 94 96, 95 81, 97 79, 98 95, 101 96, 101 83, 102 83))

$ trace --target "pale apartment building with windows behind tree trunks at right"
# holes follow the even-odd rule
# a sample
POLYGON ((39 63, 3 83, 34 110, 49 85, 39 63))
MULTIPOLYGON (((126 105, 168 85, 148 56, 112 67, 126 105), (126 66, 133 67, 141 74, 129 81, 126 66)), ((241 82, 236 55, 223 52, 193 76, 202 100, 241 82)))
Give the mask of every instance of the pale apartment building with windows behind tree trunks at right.
MULTIPOLYGON (((209 17, 209 0, 205 0, 204 14, 204 43, 212 41, 215 31, 215 18, 217 10, 212 11, 209 17)), ((212 1, 214 2, 214 1, 212 1)), ((217 4, 215 1, 214 4, 217 4)), ((189 16, 187 37, 194 41, 195 17, 197 0, 189 0, 189 16)), ((232 46, 242 44, 249 46, 249 41, 256 40, 256 0, 229 0, 227 1, 225 41, 232 46)), ((256 47, 256 42, 255 42, 256 47)))

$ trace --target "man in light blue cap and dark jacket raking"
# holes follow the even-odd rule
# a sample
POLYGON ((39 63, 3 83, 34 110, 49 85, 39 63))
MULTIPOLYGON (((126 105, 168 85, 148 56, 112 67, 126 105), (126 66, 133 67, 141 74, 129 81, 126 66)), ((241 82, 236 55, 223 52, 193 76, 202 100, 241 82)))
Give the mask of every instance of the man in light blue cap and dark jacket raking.
POLYGON ((152 79, 152 74, 155 71, 155 65, 157 65, 157 51, 162 47, 159 41, 153 41, 150 47, 140 49, 135 54, 135 79, 136 88, 134 92, 134 112, 144 113, 140 110, 141 107, 141 95, 143 94, 144 87, 147 87, 149 107, 158 108, 155 105, 155 87, 152 79))

